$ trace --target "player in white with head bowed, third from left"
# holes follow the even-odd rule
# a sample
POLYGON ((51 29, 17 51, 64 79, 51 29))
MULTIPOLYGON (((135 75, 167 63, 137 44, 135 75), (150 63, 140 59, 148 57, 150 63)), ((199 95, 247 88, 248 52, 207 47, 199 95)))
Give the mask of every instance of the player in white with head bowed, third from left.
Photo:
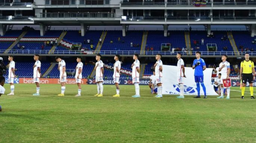
POLYGON ((61 82, 61 94, 58 94, 58 96, 64 96, 64 92, 66 89, 65 83, 66 83, 66 79, 67 79, 66 63, 60 56, 56 56, 55 60, 59 63, 59 65, 58 65, 59 81, 61 82))

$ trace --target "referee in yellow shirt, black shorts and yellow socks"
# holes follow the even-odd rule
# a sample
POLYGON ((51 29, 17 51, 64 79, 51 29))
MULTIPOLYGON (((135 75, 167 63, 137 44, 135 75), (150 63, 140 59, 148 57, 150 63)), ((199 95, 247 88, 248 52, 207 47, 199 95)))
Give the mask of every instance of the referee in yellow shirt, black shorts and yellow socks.
POLYGON ((240 69, 240 79, 242 79, 242 99, 244 99, 244 91, 246 82, 248 80, 250 85, 250 93, 251 93, 251 99, 255 99, 253 97, 253 81, 255 80, 255 69, 254 69, 254 63, 253 61, 250 61, 250 55, 249 53, 246 53, 244 55, 245 60, 241 62, 241 69, 240 69), (242 76, 243 73, 243 76, 242 76))

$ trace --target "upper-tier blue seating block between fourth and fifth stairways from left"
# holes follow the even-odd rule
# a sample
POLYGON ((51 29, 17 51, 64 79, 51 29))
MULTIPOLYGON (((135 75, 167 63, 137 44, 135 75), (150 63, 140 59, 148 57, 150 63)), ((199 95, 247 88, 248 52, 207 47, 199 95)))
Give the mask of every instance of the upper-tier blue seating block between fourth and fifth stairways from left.
POLYGON ((164 37, 163 31, 149 31, 146 41, 146 48, 154 48, 154 51, 161 51, 162 43, 171 43, 173 48, 186 48, 184 31, 170 31, 170 36, 164 37))

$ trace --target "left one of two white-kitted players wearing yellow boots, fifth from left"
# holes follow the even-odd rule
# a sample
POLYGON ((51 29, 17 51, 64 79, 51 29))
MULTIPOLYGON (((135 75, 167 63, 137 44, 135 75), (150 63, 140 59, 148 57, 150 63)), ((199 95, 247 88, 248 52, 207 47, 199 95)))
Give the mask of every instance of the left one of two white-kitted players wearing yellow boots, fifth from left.
POLYGON ((96 76, 95 80, 97 83, 97 90, 98 93, 94 96, 102 97, 103 96, 103 74, 104 74, 104 63, 101 61, 101 54, 96 55, 96 64, 95 68, 96 69, 96 76))

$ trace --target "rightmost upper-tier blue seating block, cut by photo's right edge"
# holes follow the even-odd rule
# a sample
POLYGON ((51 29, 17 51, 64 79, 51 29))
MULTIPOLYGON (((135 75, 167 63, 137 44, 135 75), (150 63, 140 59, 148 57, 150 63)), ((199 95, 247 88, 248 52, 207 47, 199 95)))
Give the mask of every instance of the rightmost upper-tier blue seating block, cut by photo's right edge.
POLYGON ((253 48, 254 51, 256 50, 256 44, 252 44, 252 41, 256 38, 256 36, 251 37, 249 32, 236 31, 233 31, 232 35, 239 51, 241 51, 241 49, 239 49, 240 45, 244 48, 249 48, 249 50, 251 50, 251 48, 253 48))

